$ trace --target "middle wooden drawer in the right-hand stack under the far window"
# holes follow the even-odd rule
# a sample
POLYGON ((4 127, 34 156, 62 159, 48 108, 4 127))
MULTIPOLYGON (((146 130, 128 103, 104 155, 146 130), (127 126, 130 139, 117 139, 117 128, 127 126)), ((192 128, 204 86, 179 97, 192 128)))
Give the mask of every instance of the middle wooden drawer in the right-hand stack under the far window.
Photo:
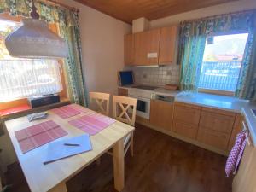
POLYGON ((212 113, 207 111, 201 112, 200 126, 206 127, 213 131, 221 131, 224 133, 231 133, 235 122, 235 116, 227 116, 219 113, 212 113))

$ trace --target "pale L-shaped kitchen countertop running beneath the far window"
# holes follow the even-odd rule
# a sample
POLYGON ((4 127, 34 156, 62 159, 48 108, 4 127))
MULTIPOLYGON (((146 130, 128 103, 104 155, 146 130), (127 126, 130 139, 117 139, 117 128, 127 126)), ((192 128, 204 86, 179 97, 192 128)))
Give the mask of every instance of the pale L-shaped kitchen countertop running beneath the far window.
MULTIPOLYGON (((140 90, 131 86, 119 86, 119 88, 140 90)), ((253 145, 256 146, 256 117, 252 112, 252 109, 256 108, 256 102, 249 102, 233 96, 218 96, 208 93, 190 93, 177 90, 165 90, 164 88, 143 91, 163 96, 174 96, 175 102, 184 102, 202 107, 218 108, 235 113, 241 113, 247 121, 248 129, 253 139, 253 145)))

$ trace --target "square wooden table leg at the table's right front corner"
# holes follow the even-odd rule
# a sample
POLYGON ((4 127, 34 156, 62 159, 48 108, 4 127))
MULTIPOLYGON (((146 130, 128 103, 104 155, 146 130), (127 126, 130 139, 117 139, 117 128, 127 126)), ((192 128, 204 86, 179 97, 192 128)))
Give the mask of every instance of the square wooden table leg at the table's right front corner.
POLYGON ((113 179, 114 188, 118 191, 125 186, 124 141, 120 139, 113 146, 113 179))

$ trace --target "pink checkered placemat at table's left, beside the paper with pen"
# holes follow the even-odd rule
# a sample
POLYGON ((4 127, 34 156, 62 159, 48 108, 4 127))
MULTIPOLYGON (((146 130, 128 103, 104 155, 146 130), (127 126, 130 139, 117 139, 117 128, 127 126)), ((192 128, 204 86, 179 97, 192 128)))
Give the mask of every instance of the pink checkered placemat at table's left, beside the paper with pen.
POLYGON ((66 135, 67 131, 63 130, 60 125, 55 124, 52 120, 15 131, 15 137, 24 154, 66 135))

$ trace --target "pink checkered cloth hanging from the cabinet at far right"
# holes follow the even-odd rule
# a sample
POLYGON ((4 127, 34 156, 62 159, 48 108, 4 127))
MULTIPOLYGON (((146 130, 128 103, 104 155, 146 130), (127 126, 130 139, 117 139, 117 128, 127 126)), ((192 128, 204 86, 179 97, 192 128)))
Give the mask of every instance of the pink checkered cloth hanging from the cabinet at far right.
POLYGON ((241 131, 236 136, 236 143, 230 151, 230 155, 226 162, 225 172, 227 177, 233 172, 236 174, 237 167, 240 164, 241 155, 243 154, 244 148, 247 144, 247 131, 241 131))

